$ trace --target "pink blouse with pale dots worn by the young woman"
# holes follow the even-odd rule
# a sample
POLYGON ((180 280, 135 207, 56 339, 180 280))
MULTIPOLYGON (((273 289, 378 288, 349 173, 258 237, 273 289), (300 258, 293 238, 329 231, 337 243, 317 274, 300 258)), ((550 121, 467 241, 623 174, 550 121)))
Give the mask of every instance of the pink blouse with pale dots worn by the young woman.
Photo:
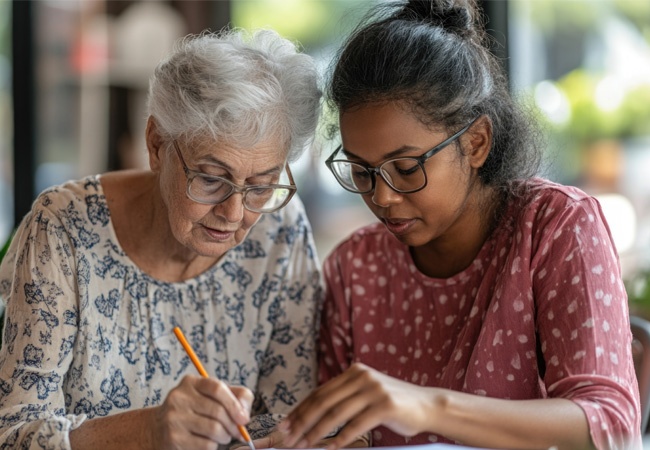
MULTIPOLYGON (((603 213, 577 188, 527 183, 450 278, 420 273, 380 223, 343 241, 324 265, 321 381, 358 361, 420 386, 566 398, 597 448, 640 447, 627 295, 603 213)), ((373 431, 375 446, 427 442, 450 441, 373 431)))

